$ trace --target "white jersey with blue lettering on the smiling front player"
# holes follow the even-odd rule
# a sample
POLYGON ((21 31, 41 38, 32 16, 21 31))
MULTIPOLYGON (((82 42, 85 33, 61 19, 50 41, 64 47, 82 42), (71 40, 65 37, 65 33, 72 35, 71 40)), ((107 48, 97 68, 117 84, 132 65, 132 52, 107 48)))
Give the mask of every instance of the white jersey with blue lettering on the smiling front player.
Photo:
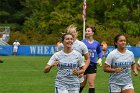
POLYGON ((80 88, 79 78, 72 74, 74 69, 79 69, 85 65, 82 55, 73 50, 66 54, 63 50, 56 52, 49 60, 48 65, 54 61, 59 61, 58 72, 55 80, 55 86, 58 89, 78 90, 80 88))

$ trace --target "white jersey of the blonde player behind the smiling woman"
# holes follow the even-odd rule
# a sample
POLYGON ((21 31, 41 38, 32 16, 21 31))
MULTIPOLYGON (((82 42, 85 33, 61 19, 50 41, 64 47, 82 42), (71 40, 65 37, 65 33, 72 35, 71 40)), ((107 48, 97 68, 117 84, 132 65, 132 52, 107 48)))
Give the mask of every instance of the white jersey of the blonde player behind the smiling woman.
MULTIPOLYGON (((74 41, 74 43, 72 45, 72 48, 74 50, 80 52, 82 55, 88 53, 87 46, 83 42, 81 42, 79 40, 74 41)), ((63 46, 62 43, 60 43, 59 46, 58 46, 58 51, 63 50, 63 49, 64 49, 64 46, 63 46)))

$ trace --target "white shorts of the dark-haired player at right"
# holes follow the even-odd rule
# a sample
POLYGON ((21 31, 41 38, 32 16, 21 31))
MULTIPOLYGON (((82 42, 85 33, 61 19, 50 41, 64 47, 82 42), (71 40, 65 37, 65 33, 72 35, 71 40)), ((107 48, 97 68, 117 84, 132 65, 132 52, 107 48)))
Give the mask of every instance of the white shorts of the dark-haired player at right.
POLYGON ((126 90, 126 89, 134 89, 133 84, 128 84, 128 85, 110 84, 110 93, 122 92, 122 90, 126 90))

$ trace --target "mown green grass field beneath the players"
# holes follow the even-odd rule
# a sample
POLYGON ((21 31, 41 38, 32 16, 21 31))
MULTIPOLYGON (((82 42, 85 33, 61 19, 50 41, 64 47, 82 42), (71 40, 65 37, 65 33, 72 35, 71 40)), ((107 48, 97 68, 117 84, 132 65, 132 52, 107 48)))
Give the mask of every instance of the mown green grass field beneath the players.
MULTIPOLYGON (((0 93, 54 93, 56 68, 43 73, 49 57, 0 56, 0 59, 4 61, 0 63, 0 93)), ((108 77, 109 74, 98 66, 96 93, 108 93, 108 77)), ((136 93, 140 93, 140 75, 133 76, 133 82, 136 93)), ((87 91, 86 86, 83 93, 87 91)))

